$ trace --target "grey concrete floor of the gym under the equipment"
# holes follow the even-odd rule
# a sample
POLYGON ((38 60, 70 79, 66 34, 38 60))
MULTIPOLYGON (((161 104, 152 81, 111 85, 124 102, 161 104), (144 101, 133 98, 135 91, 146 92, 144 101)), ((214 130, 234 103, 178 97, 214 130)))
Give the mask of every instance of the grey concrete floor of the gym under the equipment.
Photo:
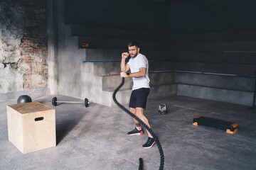
MULTIPOLYGON (((75 100, 57 96, 58 100, 75 100)), ((92 103, 51 105, 53 96, 33 98, 55 108, 57 146, 22 154, 8 140, 6 105, 0 101, 0 169, 159 169, 156 145, 142 148, 147 136, 128 136, 132 118, 119 108, 92 103)), ((89 98, 90 99, 90 98, 89 98)), ((256 109, 184 96, 149 100, 146 115, 164 150, 164 169, 256 169, 256 109), (169 113, 158 113, 166 103, 169 113), (193 118, 208 116, 238 123, 239 130, 192 125, 193 118)))

